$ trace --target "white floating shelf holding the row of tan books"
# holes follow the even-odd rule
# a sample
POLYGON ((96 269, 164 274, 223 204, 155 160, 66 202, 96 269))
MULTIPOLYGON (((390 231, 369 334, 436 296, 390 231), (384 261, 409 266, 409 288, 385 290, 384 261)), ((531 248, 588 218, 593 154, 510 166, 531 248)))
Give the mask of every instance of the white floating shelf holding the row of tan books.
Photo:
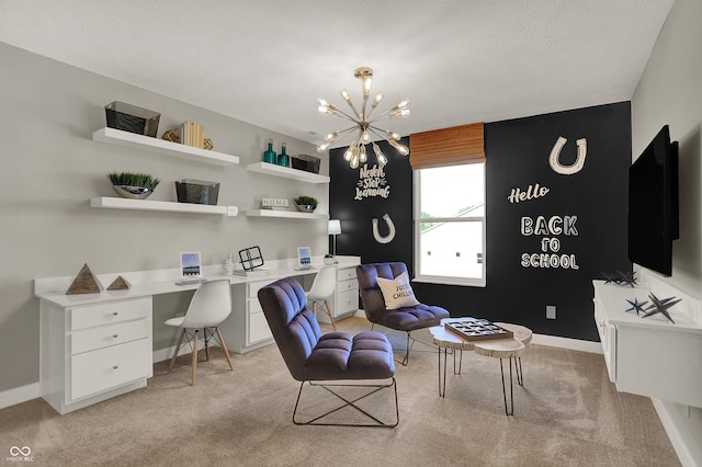
POLYGON ((178 143, 167 141, 166 139, 151 138, 149 136, 137 135, 136 133, 123 132, 121 129, 109 127, 93 132, 92 139, 93 141, 157 151, 169 156, 195 159, 201 162, 214 163, 223 167, 239 163, 239 158, 237 156, 208 151, 193 146, 181 145, 178 143))

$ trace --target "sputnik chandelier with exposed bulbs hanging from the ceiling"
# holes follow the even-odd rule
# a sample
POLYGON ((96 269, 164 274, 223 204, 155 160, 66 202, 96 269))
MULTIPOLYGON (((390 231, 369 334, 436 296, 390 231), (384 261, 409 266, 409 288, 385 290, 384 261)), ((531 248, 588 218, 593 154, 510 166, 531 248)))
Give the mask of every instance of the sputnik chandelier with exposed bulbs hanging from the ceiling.
POLYGON ((318 99, 319 113, 327 114, 327 115, 336 115, 341 118, 349 119, 353 122, 354 125, 349 128, 341 129, 339 132, 329 133, 328 135, 326 135, 325 143, 317 146, 317 152, 324 151, 329 146, 339 141, 343 137, 352 134, 353 132, 358 132, 354 134, 353 141, 351 143, 347 151, 343 153, 343 159, 349 162, 349 166, 351 166, 351 169, 356 169, 359 167, 359 163, 364 163, 367 160, 365 147, 369 144, 372 145, 373 147, 373 151, 375 152, 375 157, 377 158, 378 164, 383 167, 387 163, 387 157, 385 157, 381 148, 373 140, 374 136, 372 135, 375 135, 376 137, 385 139, 400 155, 403 156, 409 155, 409 148, 407 146, 404 146, 397 143, 400 138, 400 136, 397 133, 390 132, 389 129, 382 129, 375 126, 375 123, 381 119, 408 117, 409 109, 407 109, 407 104, 409 103, 409 101, 404 100, 400 103, 393 105, 385 112, 376 116, 372 116, 373 111, 375 110, 377 104, 383 100, 383 95, 384 95, 383 92, 378 92, 369 109, 367 102, 369 102, 369 95, 371 93, 371 82, 373 81, 373 70, 367 67, 356 68, 353 71, 353 76, 360 79, 361 81, 363 81, 363 106, 361 107, 361 112, 359 112, 355 109, 346 89, 341 91, 341 96, 343 98, 344 101, 347 101, 347 104, 349 104, 349 106, 353 111, 352 115, 349 115, 340 111, 333 104, 330 104, 324 99, 318 99))

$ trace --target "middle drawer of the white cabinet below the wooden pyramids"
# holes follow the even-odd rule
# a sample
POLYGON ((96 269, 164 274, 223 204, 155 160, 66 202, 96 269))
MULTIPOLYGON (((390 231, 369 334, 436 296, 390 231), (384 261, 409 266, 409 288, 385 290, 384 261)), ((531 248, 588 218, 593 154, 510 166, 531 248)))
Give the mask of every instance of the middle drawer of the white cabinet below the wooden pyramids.
POLYGON ((70 352, 76 355, 91 350, 136 341, 149 335, 151 335, 150 319, 83 329, 71 333, 70 352))

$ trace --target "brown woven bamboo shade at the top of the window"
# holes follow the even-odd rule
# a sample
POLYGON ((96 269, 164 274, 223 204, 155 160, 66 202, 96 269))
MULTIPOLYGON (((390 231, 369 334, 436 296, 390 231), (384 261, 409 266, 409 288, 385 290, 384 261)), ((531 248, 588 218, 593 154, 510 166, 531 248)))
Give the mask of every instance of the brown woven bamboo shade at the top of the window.
POLYGON ((409 135, 412 170, 485 162, 483 123, 409 135))

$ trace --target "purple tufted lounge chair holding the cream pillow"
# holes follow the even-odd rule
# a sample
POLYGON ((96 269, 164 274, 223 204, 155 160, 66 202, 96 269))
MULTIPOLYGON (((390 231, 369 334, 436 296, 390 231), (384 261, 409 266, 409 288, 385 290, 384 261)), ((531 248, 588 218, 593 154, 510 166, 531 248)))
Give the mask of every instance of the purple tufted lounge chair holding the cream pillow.
MULTIPOLYGON (((443 318, 451 316, 448 310, 441 307, 421 303, 411 307, 403 307, 394 310, 386 309, 383 292, 377 285, 377 278, 394 280, 406 272, 407 265, 401 262, 360 264, 355 266, 361 303, 363 304, 363 310, 369 321, 373 324, 381 324, 386 328, 407 332, 407 352, 405 358, 400 362, 403 365, 407 365, 409 362, 410 332, 417 329, 439 326, 443 318)), ((373 330, 373 326, 371 326, 371 330, 373 330)))

